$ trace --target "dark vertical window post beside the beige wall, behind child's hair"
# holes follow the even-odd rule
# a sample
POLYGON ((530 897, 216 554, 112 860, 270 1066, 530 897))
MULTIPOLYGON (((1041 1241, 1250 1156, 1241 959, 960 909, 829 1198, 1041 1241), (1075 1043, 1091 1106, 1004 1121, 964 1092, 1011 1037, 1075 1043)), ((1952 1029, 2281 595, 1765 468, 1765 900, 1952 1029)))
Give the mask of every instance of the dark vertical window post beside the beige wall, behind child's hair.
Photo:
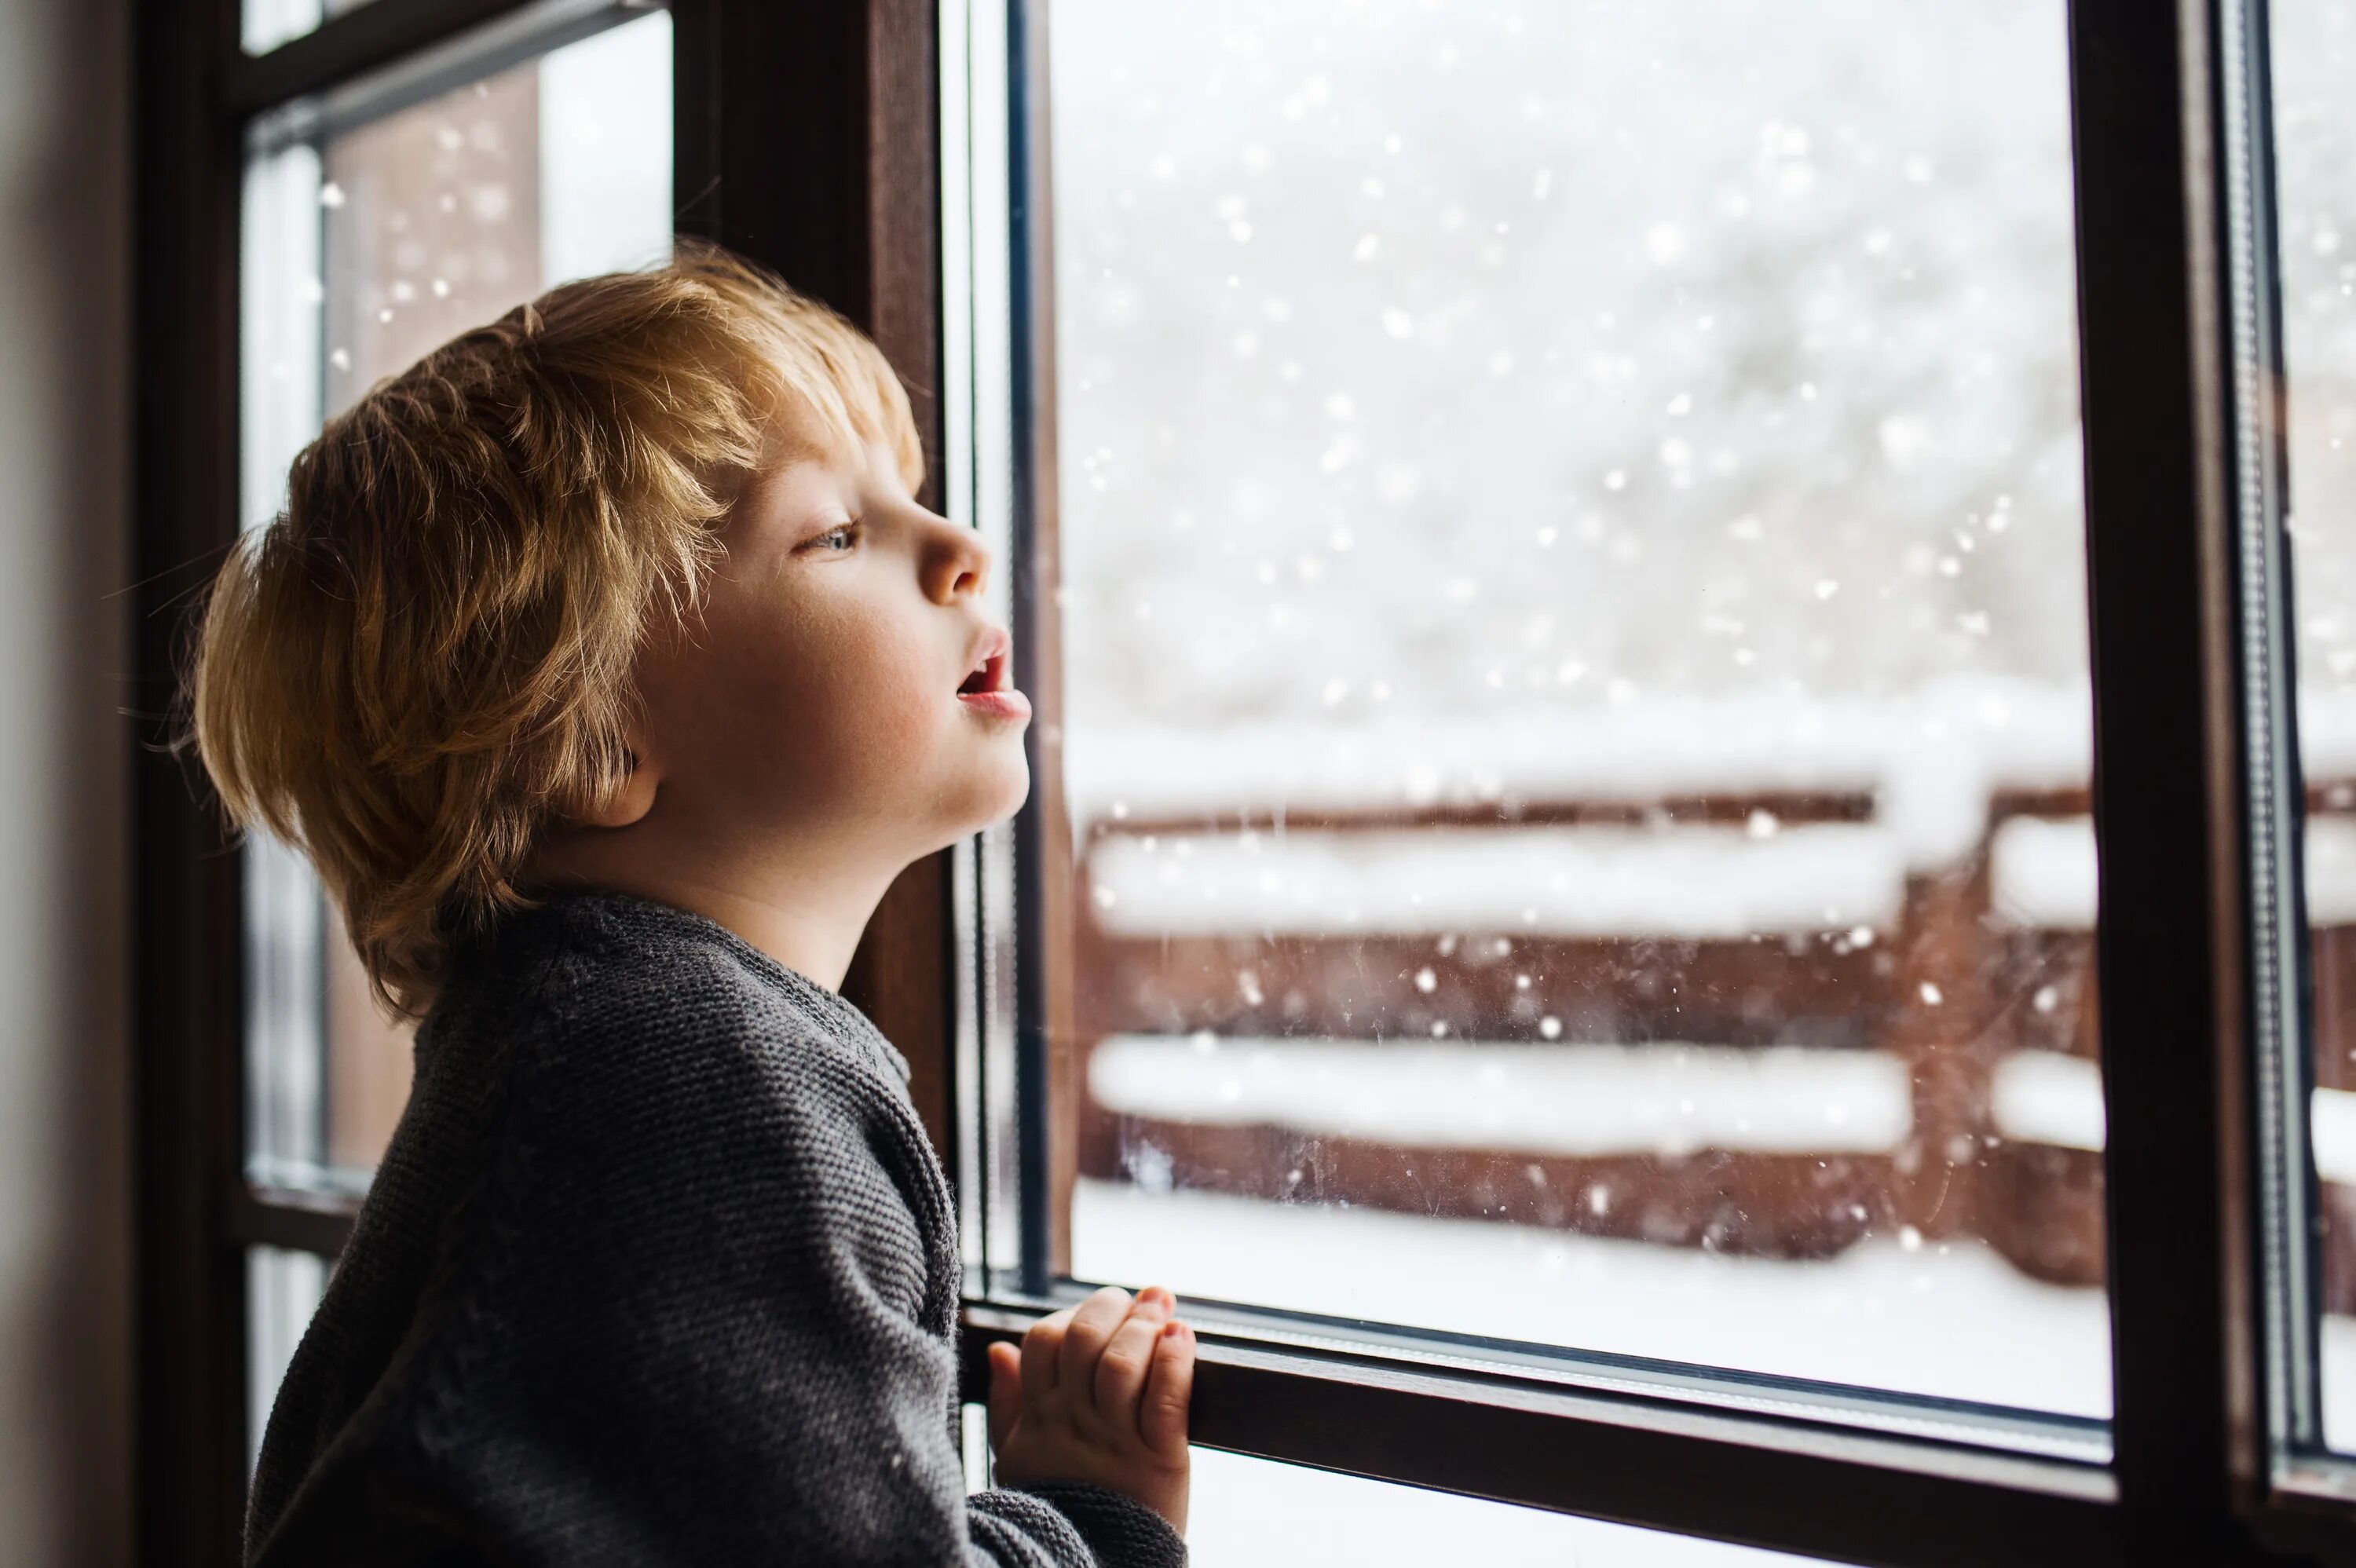
POLYGON ((132 1064, 137 1559, 236 1561, 245 1455, 238 857, 167 735, 181 605, 236 537, 243 129, 219 73, 231 0, 146 0, 134 42, 132 1064))

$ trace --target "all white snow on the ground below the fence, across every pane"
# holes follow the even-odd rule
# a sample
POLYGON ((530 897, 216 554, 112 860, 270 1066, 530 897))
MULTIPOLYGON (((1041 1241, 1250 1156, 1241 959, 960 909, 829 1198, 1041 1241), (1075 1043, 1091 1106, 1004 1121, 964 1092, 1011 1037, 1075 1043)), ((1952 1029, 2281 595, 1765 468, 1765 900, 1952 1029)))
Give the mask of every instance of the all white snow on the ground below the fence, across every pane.
MULTIPOLYGON (((1661 1356, 2069 1415, 2111 1410, 2102 1290, 2024 1278, 1979 1245, 1868 1241, 1828 1262, 1371 1210, 1079 1182, 1074 1271, 1541 1344, 1661 1356)), ((2323 1321, 2325 1427, 2356 1441, 2356 1321, 2323 1321)), ((1718 1542, 1194 1450, 1190 1544, 1220 1568, 1758 1568, 1718 1542)))

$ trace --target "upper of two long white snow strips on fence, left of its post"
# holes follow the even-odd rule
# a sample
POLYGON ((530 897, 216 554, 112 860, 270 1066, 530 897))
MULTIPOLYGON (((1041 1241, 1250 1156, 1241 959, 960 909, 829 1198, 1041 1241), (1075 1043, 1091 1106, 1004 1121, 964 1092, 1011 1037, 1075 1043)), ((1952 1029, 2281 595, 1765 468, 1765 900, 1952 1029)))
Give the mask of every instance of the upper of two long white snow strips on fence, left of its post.
POLYGON ((1875 925, 1906 899, 1880 826, 1399 829, 1105 838, 1096 921, 1133 935, 1423 935, 1743 939, 1875 925))

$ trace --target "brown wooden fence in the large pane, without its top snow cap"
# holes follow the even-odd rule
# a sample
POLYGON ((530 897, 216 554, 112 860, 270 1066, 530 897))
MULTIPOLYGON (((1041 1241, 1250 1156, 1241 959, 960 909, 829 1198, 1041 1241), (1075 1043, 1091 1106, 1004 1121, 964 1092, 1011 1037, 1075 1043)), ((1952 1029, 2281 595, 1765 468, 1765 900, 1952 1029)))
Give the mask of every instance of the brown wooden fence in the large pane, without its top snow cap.
POLYGON ((1979 838, 1915 871, 1864 791, 1098 817, 1079 1172, 1783 1257, 1996 1231, 2090 1278, 2099 1189, 1988 1121, 1998 1059, 2092 1050, 2090 944, 1993 921, 1979 838))

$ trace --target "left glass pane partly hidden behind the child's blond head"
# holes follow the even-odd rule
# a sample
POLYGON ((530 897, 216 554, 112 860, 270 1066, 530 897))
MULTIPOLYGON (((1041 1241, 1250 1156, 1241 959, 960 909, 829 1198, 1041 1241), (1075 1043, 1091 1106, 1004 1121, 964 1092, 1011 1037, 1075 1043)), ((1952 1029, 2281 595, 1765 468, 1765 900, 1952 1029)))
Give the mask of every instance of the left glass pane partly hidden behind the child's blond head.
MULTIPOLYGON (((243 221, 257 527, 285 504, 294 452, 377 379, 554 283, 669 252, 669 16, 335 134, 264 125, 243 221)), ((408 1097, 410 1026, 386 1022, 299 857, 257 845, 247 909, 254 1175, 365 1182, 408 1097)))

